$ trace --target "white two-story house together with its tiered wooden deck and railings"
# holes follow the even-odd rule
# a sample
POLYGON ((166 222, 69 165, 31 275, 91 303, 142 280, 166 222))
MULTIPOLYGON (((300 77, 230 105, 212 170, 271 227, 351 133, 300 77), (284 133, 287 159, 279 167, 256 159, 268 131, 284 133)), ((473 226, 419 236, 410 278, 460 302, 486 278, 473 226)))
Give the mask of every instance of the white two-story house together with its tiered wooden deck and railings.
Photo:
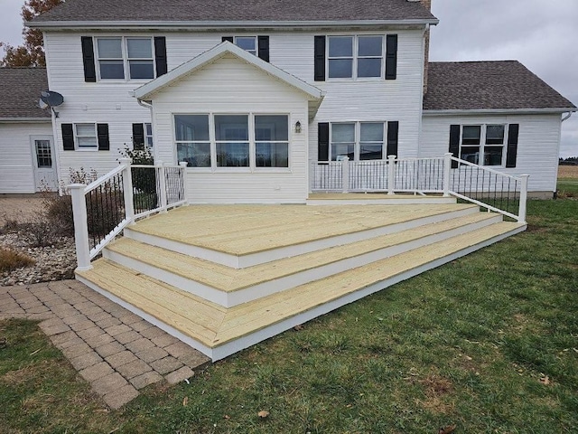
POLYGON ((437 23, 426 0, 34 19, 58 177, 104 175, 70 186, 77 278, 218 360, 524 231, 576 108, 517 61, 430 63, 437 23), (157 164, 119 165, 126 146, 157 164))

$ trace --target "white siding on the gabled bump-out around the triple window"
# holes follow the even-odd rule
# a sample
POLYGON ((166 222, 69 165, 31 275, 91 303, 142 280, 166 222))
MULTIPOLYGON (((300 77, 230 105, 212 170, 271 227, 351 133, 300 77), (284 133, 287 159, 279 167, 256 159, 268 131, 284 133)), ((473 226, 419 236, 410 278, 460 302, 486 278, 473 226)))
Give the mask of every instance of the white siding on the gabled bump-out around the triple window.
MULTIPOLYGON (((172 164, 177 162, 174 115, 210 115, 210 124, 220 115, 247 117, 251 137, 255 135, 255 117, 285 114, 289 119, 289 167, 256 167, 252 163, 248 167, 188 168, 191 203, 303 203, 307 198, 308 104, 299 90, 232 56, 224 56, 159 91, 152 99, 154 150, 158 158, 172 164), (301 121, 301 133, 294 132, 297 121, 301 121)), ((227 137, 215 137, 211 146, 221 138, 227 137)), ((211 151, 217 154, 216 147, 211 151)))

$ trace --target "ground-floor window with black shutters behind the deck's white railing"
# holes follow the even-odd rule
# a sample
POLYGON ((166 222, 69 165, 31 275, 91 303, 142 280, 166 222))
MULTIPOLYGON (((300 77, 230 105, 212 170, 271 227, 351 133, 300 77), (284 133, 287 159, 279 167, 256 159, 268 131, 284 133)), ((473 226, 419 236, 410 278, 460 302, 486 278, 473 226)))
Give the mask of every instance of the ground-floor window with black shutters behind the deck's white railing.
POLYGON ((330 128, 330 156, 339 161, 381 160, 385 158, 385 122, 332 123, 330 128))

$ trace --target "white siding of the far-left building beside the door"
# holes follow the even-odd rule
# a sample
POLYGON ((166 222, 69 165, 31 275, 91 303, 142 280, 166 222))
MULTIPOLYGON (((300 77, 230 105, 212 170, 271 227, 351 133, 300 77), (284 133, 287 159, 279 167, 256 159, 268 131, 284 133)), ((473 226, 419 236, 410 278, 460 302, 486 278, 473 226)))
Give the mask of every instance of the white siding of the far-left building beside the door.
POLYGON ((47 123, 0 123, 0 193, 34 193, 31 136, 51 136, 47 123))

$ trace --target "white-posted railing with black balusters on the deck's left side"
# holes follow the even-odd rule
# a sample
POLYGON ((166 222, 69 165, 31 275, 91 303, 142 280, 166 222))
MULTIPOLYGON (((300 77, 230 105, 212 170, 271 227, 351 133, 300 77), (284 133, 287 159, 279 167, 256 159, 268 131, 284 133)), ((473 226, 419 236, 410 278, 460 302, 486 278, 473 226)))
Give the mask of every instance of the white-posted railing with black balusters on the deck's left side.
POLYGON ((128 224, 186 202, 185 168, 181 165, 131 165, 128 158, 95 182, 68 185, 74 213, 79 270, 128 224))

